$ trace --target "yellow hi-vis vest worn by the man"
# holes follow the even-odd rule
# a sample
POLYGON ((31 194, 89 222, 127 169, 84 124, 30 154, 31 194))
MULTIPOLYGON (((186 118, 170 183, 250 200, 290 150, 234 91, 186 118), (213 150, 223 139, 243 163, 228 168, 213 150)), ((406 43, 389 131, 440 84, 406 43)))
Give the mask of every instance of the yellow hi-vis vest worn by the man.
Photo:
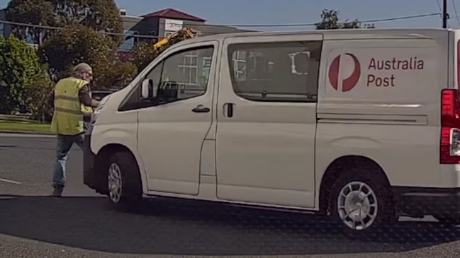
POLYGON ((79 91, 87 81, 69 77, 55 86, 55 112, 52 116, 51 131, 57 134, 76 135, 83 132, 83 107, 79 91))

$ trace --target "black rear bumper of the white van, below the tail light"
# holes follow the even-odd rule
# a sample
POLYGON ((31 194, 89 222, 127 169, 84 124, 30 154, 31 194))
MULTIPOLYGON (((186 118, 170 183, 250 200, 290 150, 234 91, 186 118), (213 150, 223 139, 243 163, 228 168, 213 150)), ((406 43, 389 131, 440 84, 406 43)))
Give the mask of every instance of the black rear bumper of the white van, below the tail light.
POLYGON ((409 216, 449 216, 460 218, 460 187, 393 187, 398 208, 409 216))

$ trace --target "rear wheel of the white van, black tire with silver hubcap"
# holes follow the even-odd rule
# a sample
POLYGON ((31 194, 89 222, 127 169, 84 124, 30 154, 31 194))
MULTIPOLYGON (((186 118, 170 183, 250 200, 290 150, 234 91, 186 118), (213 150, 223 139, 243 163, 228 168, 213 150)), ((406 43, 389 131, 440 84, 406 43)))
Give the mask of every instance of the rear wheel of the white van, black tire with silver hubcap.
POLYGON ((378 225, 396 221, 388 185, 378 177, 371 179, 367 175, 366 170, 355 169, 344 173, 332 184, 330 213, 335 221, 340 222, 345 233, 362 235, 374 231, 378 225))

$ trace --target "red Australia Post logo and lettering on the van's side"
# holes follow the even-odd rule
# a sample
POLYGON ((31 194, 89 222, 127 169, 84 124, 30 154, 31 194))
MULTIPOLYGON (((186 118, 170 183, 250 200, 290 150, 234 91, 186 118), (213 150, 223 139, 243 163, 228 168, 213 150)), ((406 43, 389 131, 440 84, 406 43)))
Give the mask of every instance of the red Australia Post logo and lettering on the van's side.
POLYGON ((344 53, 332 59, 327 76, 332 88, 347 92, 359 84, 361 77, 366 88, 393 88, 398 87, 398 79, 401 80, 401 77, 406 76, 406 80, 413 78, 417 75, 408 73, 424 69, 425 61, 419 57, 367 57, 359 60, 352 53, 344 53))

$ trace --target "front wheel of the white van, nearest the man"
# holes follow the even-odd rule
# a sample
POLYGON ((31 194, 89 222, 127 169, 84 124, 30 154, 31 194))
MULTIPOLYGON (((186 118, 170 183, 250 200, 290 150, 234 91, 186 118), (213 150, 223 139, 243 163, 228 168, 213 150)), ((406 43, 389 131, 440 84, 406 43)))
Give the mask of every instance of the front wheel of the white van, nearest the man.
POLYGON ((108 200, 114 209, 132 211, 142 201, 142 181, 138 163, 131 153, 117 152, 107 165, 108 200))

